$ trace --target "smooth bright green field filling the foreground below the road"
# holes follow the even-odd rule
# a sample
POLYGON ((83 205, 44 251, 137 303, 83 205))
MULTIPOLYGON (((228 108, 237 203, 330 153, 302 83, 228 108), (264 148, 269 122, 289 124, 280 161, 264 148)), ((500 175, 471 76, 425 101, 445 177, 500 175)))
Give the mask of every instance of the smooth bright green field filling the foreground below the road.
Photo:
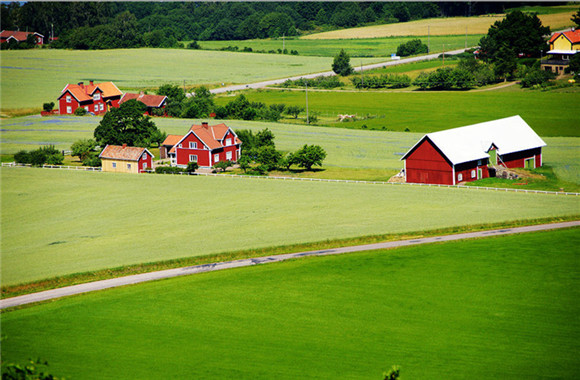
POLYGON ((4 313, 2 360, 80 379, 380 379, 395 364, 407 379, 571 379, 578 244, 578 229, 541 232, 71 297, 4 313))

